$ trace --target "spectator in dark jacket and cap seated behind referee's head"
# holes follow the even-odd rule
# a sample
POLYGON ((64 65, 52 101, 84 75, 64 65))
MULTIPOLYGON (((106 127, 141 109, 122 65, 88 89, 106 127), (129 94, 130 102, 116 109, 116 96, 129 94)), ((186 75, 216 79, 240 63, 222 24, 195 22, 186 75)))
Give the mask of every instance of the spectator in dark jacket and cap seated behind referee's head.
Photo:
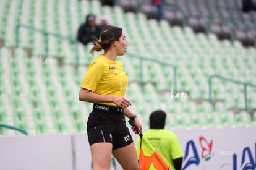
POLYGON ((77 40, 83 45, 92 42, 95 38, 100 37, 101 27, 96 25, 96 16, 88 14, 85 23, 80 25, 77 40))

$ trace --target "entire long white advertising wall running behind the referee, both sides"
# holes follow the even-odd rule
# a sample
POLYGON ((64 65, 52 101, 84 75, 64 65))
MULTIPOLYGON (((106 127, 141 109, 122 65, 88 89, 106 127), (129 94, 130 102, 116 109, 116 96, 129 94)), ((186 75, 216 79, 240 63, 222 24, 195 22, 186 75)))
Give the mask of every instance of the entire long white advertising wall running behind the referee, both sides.
MULTIPOLYGON (((182 170, 256 170, 256 128, 174 130, 182 170)), ((139 135, 132 132, 134 141, 139 135)), ((92 169, 87 134, 0 137, 0 170, 92 169)), ((111 169, 122 169, 116 159, 111 169)))

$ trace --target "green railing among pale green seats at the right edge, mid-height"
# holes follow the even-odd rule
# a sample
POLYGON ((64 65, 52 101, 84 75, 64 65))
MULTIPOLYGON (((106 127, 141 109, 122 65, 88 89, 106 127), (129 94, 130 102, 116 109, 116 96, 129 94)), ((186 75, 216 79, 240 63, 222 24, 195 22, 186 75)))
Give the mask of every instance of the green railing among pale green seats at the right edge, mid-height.
POLYGON ((232 82, 232 83, 236 83, 237 85, 244 85, 244 100, 245 100, 245 111, 248 112, 248 101, 247 101, 247 86, 250 86, 250 87, 255 87, 256 88, 256 85, 252 84, 252 83, 247 83, 247 82, 241 82, 239 80, 234 80, 234 79, 229 79, 227 77, 223 77, 221 75, 211 75, 208 79, 208 87, 209 87, 209 102, 211 104, 213 104, 213 98, 212 98, 212 82, 211 80, 212 79, 220 79, 220 80, 224 80, 226 82, 232 82))

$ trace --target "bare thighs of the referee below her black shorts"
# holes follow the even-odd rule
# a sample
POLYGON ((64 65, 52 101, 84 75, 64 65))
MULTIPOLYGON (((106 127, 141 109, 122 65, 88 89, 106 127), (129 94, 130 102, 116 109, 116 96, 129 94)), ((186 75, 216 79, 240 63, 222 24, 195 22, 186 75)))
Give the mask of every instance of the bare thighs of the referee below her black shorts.
MULTIPOLYGON (((111 143, 95 143, 91 147, 93 169, 109 170, 111 162, 112 144, 111 143)), ((140 170, 137 160, 137 153, 134 143, 126 147, 113 150, 113 155, 121 164, 124 170, 140 170)))

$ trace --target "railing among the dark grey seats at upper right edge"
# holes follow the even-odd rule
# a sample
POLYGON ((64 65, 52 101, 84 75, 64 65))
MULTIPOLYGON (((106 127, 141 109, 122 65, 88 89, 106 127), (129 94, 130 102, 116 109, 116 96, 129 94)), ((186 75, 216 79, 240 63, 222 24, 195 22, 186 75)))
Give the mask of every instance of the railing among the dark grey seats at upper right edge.
MULTIPOLYGON (((236 40, 236 28, 235 28, 236 26, 242 26, 244 28, 252 29, 252 30, 256 31, 256 25, 249 25, 244 22, 240 22, 240 21, 233 20, 233 19, 228 19, 228 18, 221 17, 218 15, 208 15, 207 16, 207 25, 206 25, 207 26, 207 28, 206 28, 207 35, 210 33, 210 25, 211 25, 212 20, 219 20, 221 22, 226 22, 226 23, 231 24, 231 42, 232 43, 234 42, 234 40, 236 40)), ((254 37, 254 39, 255 39, 255 37, 254 37)))

